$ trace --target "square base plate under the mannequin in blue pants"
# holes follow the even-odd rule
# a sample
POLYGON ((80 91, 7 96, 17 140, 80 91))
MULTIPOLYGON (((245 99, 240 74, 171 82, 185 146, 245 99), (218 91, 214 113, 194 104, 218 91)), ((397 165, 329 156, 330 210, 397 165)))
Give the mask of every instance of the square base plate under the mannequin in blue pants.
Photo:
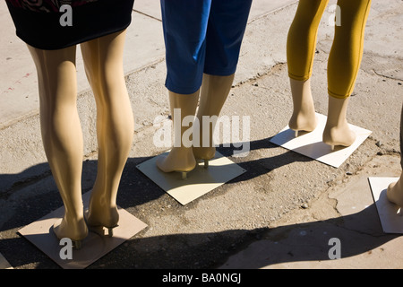
MULTIPOLYGON (((165 152, 163 154, 167 154, 165 152)), ((182 179, 179 172, 165 173, 156 165, 158 156, 144 161, 137 166, 142 173, 164 189, 168 195, 174 197, 180 204, 188 204, 194 199, 203 196, 227 181, 238 177, 246 170, 235 162, 228 160, 219 152, 209 161, 209 168, 204 169, 204 163, 199 162, 196 168, 182 179)))

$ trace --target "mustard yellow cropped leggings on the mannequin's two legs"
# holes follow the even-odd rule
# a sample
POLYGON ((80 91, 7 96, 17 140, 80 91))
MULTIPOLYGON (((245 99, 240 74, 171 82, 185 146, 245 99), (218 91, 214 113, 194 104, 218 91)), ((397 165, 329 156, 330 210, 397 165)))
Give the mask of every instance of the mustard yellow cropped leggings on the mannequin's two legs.
MULTIPOLYGON (((306 81, 312 75, 319 23, 329 0, 300 0, 296 17, 288 31, 288 75, 306 81)), ((328 90, 332 97, 348 98, 354 90, 364 49, 364 28, 371 0, 339 0, 340 25, 328 62, 328 90)))

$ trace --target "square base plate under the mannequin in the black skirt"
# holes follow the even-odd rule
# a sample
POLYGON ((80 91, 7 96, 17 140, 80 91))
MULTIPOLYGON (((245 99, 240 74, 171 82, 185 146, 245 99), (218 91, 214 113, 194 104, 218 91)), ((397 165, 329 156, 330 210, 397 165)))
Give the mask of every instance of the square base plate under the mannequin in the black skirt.
MULTIPOLYGON (((84 209, 86 209, 90 200, 90 192, 82 197, 84 209)), ((101 236, 90 231, 88 237, 82 241, 81 249, 73 248, 72 259, 61 258, 60 252, 64 245, 59 245, 60 240, 53 232, 53 224, 64 216, 64 206, 47 214, 37 222, 30 223, 18 232, 64 269, 83 269, 147 227, 147 224, 119 206, 118 212, 119 225, 113 230, 114 236, 101 236)))

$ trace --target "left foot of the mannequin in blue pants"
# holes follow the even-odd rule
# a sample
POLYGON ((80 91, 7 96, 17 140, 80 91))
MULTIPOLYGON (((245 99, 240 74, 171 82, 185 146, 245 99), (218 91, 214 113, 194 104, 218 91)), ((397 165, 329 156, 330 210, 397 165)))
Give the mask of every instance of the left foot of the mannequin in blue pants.
POLYGON ((181 172, 182 178, 186 178, 187 172, 194 170, 196 167, 193 150, 191 148, 174 147, 167 156, 159 156, 157 167, 164 172, 181 172))

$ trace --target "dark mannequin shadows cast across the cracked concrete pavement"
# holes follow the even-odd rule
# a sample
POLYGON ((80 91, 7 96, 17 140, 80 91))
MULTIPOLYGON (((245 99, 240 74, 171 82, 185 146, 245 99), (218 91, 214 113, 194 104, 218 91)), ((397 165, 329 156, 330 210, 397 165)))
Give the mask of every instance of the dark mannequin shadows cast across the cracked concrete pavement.
MULTIPOLYGON (((256 151, 274 148, 277 145, 270 143, 270 139, 263 139, 251 142, 250 147, 251 151, 256 151)), ((232 155, 234 152, 233 147, 219 147, 218 150, 225 156, 232 155)), ((137 206, 141 204, 167 200, 174 205, 174 208, 178 210, 182 208, 149 178, 141 174, 141 171, 137 170, 136 166, 139 163, 149 159, 150 157, 131 158, 127 161, 117 199, 117 204, 146 223, 147 218, 141 218, 141 216, 146 216, 152 211, 138 215, 137 206)), ((295 152, 284 152, 272 158, 255 161, 244 161, 244 159, 238 158, 237 163, 248 171, 228 184, 258 177, 295 161, 312 160, 295 152)), ((96 176, 96 166, 97 161, 83 163, 83 193, 91 188, 96 176)), ((27 172, 30 174, 30 171, 27 172)), ((0 181, 4 177, 13 177, 13 175, 0 175, 0 181)), ((51 175, 47 175, 47 177, 51 178, 51 175)), ((21 178, 21 175, 18 175, 18 178, 21 178)), ((3 223, 1 232, 5 236, 0 239, 0 251, 14 268, 32 266, 34 268, 59 268, 28 240, 15 235, 21 227, 38 220, 62 205, 55 183, 51 182, 53 186, 49 187, 49 192, 17 201, 18 206, 13 207, 18 209, 18 213, 3 223)), ((5 195, 5 197, 7 196, 10 195, 5 195)), ((330 238, 339 238, 341 242, 344 242, 342 257, 352 257, 370 252, 373 248, 380 247, 385 242, 398 237, 382 233, 374 204, 362 212, 327 221, 292 224, 272 229, 224 230, 214 233, 167 234, 143 238, 146 230, 142 230, 123 245, 100 258, 89 268, 217 268, 224 264, 232 254, 252 242, 265 240, 269 244, 262 250, 259 257, 251 260, 248 265, 238 266, 239 268, 255 269, 283 262, 329 260, 330 238), (370 227, 368 230, 371 231, 361 230, 363 222, 364 225, 370 227), (346 227, 348 228, 346 229, 346 227), (356 231, 355 228, 359 231, 356 231)))

